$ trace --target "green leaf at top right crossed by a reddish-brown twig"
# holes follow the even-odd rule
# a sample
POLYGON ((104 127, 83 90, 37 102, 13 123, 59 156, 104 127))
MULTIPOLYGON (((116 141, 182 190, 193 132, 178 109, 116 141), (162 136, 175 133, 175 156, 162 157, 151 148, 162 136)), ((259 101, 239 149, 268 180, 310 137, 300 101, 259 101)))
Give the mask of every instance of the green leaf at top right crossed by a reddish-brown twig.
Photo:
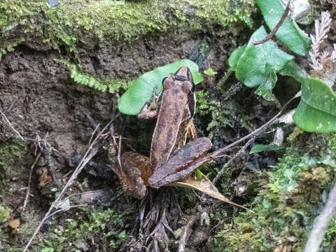
MULTIPOLYGON (((280 0, 257 0, 257 3, 267 26, 269 29, 274 29, 281 19, 285 7, 280 0)), ((290 18, 287 17, 285 19, 281 27, 276 31, 275 36, 297 55, 308 55, 311 39, 290 18)), ((265 36, 262 38, 265 38, 265 36)))

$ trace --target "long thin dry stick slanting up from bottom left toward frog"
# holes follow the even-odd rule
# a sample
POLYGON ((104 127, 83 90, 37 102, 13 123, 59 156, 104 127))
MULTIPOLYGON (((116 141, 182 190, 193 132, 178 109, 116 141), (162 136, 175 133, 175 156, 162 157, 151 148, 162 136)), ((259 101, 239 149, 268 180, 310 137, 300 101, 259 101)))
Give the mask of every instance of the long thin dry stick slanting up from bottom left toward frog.
POLYGON ((73 180, 77 178, 78 174, 82 171, 82 169, 85 167, 85 165, 87 164, 87 162, 89 162, 94 155, 96 155, 98 148, 94 148, 94 144, 97 143, 98 139, 100 138, 100 136, 102 135, 102 133, 106 130, 107 127, 109 127, 109 125, 112 123, 113 120, 111 120, 105 127, 104 129, 99 132, 99 134, 97 134, 97 137, 94 138, 94 140, 92 141, 92 143, 90 144, 90 146, 87 148, 86 153, 84 154, 82 160, 80 160, 78 166, 75 169, 75 172, 73 172, 73 174, 71 175, 70 179, 68 182, 66 182, 66 185, 64 186, 64 188, 62 189, 61 193, 59 193, 59 195, 56 197, 55 201, 52 202, 50 208, 48 209, 48 211, 45 213, 45 216, 43 217, 42 221, 38 224, 36 230, 34 231, 34 234, 31 236, 31 239, 28 241, 28 244, 25 246, 25 249, 23 250, 23 252, 26 252, 27 249, 29 248, 29 246, 31 245, 31 242, 34 240, 34 238, 36 237, 38 231, 41 229, 43 223, 45 222, 45 220, 50 216, 52 209, 55 207, 55 204, 57 202, 59 202, 59 200, 61 199, 61 197, 63 196, 64 192, 66 191, 67 188, 69 188, 69 186, 71 186, 71 184, 73 183, 73 180))

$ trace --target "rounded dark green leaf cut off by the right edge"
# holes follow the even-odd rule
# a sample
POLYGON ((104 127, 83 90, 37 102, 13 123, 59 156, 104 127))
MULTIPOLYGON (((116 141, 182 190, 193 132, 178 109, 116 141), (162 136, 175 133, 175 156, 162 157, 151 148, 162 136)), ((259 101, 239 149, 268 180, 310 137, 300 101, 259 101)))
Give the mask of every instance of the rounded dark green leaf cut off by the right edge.
POLYGON ((293 120, 307 132, 336 131, 336 95, 317 78, 302 79, 302 97, 293 120))

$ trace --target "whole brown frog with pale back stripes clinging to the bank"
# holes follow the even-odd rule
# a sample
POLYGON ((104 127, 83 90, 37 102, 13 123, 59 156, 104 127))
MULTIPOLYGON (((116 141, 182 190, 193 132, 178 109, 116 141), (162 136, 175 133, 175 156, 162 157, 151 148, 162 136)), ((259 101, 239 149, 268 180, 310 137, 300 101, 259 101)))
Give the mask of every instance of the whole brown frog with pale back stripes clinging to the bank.
POLYGON ((197 167, 197 158, 212 147, 206 137, 196 138, 195 84, 187 66, 162 81, 163 91, 158 109, 149 110, 146 104, 140 118, 158 117, 151 144, 150 158, 127 152, 120 158, 118 177, 123 190, 134 197, 146 195, 146 186, 160 188, 186 178, 197 167), (192 141, 186 144, 187 136, 192 141))

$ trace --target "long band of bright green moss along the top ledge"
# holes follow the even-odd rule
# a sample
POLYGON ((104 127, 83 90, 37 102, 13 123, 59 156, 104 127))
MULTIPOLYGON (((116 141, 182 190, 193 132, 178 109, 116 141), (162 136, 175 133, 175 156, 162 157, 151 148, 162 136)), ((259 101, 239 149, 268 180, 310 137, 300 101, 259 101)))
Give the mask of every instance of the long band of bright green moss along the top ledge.
POLYGON ((201 31, 236 22, 251 26, 254 1, 106 1, 60 0, 48 8, 45 0, 0 3, 0 48, 11 50, 18 41, 38 38, 54 48, 75 50, 81 43, 92 48, 102 41, 134 41, 146 34, 201 31))

